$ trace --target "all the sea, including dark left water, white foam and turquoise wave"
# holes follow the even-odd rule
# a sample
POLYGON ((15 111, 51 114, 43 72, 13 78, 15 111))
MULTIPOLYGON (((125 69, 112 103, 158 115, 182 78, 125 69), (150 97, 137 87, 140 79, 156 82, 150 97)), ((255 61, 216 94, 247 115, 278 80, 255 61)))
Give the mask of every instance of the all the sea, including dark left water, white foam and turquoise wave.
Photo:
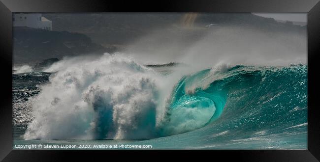
POLYGON ((306 65, 185 68, 103 56, 12 74, 13 149, 307 149, 306 65))

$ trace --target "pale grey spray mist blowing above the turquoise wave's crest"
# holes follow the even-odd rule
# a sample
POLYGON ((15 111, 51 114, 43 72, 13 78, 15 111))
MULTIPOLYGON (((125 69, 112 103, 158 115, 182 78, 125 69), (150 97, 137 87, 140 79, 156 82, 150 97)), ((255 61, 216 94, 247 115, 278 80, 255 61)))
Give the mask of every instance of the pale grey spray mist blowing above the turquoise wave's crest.
POLYGON ((179 31, 186 34, 175 35, 169 29, 155 31, 132 44, 125 53, 142 63, 183 62, 199 68, 222 62, 273 66, 307 63, 306 33, 268 32, 250 27, 192 27, 179 31))

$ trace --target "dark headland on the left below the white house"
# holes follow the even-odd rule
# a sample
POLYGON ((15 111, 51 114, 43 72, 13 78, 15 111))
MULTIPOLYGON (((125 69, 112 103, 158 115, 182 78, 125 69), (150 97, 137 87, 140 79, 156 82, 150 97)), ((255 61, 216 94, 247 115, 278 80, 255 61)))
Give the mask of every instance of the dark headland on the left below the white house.
POLYGON ((47 31, 29 27, 13 28, 14 63, 37 63, 47 58, 112 52, 92 43, 90 37, 68 31, 47 31))

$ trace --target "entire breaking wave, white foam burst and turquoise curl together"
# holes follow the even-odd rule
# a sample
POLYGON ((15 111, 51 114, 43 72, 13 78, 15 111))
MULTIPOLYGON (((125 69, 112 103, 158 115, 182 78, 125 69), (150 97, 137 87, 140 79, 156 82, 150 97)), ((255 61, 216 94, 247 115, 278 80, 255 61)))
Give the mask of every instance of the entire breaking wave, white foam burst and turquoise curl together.
POLYGON ((30 98, 34 119, 25 139, 150 139, 192 131, 232 133, 236 140, 306 132, 306 65, 221 65, 180 77, 118 54, 75 62, 30 98))

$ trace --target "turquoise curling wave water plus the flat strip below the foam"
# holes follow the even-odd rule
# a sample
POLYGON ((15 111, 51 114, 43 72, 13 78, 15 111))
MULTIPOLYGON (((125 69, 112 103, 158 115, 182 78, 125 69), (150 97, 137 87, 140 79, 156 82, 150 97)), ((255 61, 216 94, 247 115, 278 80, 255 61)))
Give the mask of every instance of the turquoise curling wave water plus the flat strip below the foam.
POLYGON ((89 145, 83 149, 98 149, 93 148, 97 144, 152 145, 152 149, 307 149, 307 98, 305 65, 205 69, 176 83, 168 120, 157 130, 155 138, 16 138, 14 145, 89 145))

